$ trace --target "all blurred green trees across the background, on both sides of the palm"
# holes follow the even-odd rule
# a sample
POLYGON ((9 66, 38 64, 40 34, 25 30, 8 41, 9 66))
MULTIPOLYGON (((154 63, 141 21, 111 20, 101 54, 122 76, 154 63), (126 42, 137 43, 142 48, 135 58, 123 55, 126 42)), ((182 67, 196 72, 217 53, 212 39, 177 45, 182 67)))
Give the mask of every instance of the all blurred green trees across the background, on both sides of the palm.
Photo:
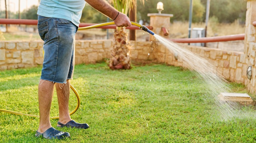
MULTIPOLYGON (((148 13, 158 13, 157 3, 160 0, 137 0, 137 21, 148 22, 148 13), (143 4, 144 3, 144 4, 143 4)), ((164 6, 162 13, 173 14, 171 21, 188 21, 190 0, 161 0, 164 6)), ((193 22, 204 22, 207 0, 193 0, 193 22)), ((210 17, 214 17, 220 23, 232 23, 238 20, 245 23, 246 0, 211 0, 210 17)), ((37 19, 37 7, 32 6, 21 12, 22 19, 37 19)), ((9 18, 18 18, 18 12, 9 12, 9 18)), ((5 11, 0 12, 0 18, 5 18, 5 11)), ((107 18, 86 4, 83 9, 82 23, 103 23, 107 18)))

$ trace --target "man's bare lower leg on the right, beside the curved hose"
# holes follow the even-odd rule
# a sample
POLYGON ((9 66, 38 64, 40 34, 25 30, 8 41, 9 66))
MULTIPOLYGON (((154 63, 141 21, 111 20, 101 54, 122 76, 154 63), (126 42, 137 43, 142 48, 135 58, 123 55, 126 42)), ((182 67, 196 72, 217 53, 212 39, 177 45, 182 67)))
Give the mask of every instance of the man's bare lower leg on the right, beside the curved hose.
POLYGON ((69 115, 70 80, 67 80, 67 84, 56 83, 55 87, 59 104, 59 122, 66 124, 72 120, 69 115))

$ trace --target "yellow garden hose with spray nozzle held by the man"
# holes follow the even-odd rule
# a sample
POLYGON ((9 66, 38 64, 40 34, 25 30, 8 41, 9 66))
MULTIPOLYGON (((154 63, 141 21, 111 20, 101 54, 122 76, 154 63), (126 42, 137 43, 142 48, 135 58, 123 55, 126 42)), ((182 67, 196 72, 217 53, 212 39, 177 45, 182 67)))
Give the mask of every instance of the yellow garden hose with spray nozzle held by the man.
MULTIPOLYGON (((132 25, 135 25, 135 26, 138 26, 139 29, 142 29, 148 33, 150 33, 151 35, 154 35, 155 33, 152 32, 151 30, 149 30, 146 26, 143 26, 141 24, 138 24, 136 22, 131 22, 132 25)), ((115 24, 114 22, 107 22, 107 23, 102 23, 102 24, 95 24, 95 25, 91 25, 91 26, 86 26, 86 27, 79 27, 78 30, 86 30, 86 29, 92 29, 92 28, 96 28, 96 27, 101 27, 101 26, 107 26, 107 25, 113 25, 115 24)), ((43 52, 43 55, 44 55, 44 52, 43 52)), ((77 105, 75 107, 75 109, 69 113, 69 115, 72 115, 74 114, 77 109, 79 108, 80 106, 80 97, 79 97, 79 94, 78 92, 76 91, 75 87, 73 87, 72 85, 70 85, 70 88, 74 91, 75 95, 76 95, 76 98, 77 98, 77 105)), ((37 115, 30 115, 30 114, 24 114, 24 113, 19 113, 19 112, 14 112, 14 111, 10 111, 10 110, 5 110, 5 109, 0 109, 0 112, 6 112, 6 113, 10 113, 10 114, 15 114, 15 115, 26 115, 26 116, 31 116, 31 117, 39 117, 37 115)), ((59 117, 50 117, 51 119, 59 119, 59 117)))

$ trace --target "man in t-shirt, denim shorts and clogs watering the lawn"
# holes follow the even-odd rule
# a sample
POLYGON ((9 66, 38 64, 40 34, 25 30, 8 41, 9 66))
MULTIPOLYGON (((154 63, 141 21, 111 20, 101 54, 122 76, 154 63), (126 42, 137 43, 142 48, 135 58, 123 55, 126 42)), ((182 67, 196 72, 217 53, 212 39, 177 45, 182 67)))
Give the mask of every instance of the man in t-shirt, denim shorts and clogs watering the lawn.
POLYGON ((105 0, 41 0, 38 7, 38 32, 44 40, 44 62, 38 85, 40 121, 35 136, 62 139, 67 132, 54 129, 50 123, 53 88, 56 87, 59 105, 59 127, 86 129, 88 124, 76 123, 69 116, 70 79, 75 61, 75 33, 85 3, 113 19, 120 26, 131 26, 129 18, 119 13, 105 0))

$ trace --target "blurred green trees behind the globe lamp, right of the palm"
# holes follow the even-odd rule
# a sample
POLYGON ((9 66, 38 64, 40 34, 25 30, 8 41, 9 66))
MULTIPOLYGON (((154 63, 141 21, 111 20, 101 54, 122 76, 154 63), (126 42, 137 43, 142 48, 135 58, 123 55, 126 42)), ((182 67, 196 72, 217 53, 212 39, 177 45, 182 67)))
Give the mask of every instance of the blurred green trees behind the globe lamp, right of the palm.
MULTIPOLYGON (((145 4, 137 3, 137 20, 149 22, 148 13, 158 13, 159 0, 148 0, 145 4)), ((173 14, 171 21, 188 21, 190 0, 161 0, 164 6, 162 13, 173 14)), ((207 0, 193 0, 193 22, 204 22, 207 0)), ((239 19, 245 22, 245 0, 211 0, 210 17, 216 17, 220 23, 232 23, 239 19)))

